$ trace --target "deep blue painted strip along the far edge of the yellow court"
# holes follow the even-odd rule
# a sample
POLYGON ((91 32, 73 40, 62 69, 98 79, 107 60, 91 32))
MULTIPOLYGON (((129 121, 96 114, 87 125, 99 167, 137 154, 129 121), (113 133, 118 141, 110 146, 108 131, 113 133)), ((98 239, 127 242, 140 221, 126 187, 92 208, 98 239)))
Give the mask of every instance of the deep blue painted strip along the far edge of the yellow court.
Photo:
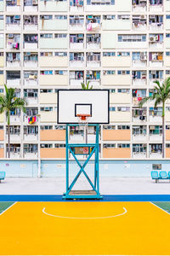
MULTIPOLYGON (((170 201, 170 195, 102 195, 102 200, 77 201, 170 201)), ((0 201, 74 201, 62 195, 0 195, 0 201)))

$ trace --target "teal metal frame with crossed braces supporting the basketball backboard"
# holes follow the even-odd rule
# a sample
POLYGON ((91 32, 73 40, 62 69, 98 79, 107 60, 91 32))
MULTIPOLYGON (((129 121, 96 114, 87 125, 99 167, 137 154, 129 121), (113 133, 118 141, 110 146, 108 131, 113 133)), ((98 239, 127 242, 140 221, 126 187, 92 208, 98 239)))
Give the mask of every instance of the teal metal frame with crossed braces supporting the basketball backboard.
POLYGON ((77 125, 66 125, 65 131, 65 148, 66 148, 66 192, 63 195, 64 199, 101 199, 102 196, 99 194, 99 125, 88 124, 88 126, 96 127, 96 138, 95 143, 69 143, 69 127, 70 126, 78 126, 77 125), (91 150, 88 150, 87 159, 81 164, 80 160, 77 159, 77 154, 75 154, 75 148, 78 147, 87 147, 91 150), (80 167, 79 172, 77 172, 76 177, 74 177, 73 181, 70 183, 70 175, 69 175, 69 154, 72 154, 74 159, 77 162, 77 165, 80 167), (94 154, 94 183, 91 181, 90 177, 88 177, 87 172, 85 171, 85 167, 88 165, 89 160, 94 154), (81 173, 87 178, 88 183, 91 185, 92 190, 72 190, 75 183, 77 183, 78 177, 80 177, 81 173))

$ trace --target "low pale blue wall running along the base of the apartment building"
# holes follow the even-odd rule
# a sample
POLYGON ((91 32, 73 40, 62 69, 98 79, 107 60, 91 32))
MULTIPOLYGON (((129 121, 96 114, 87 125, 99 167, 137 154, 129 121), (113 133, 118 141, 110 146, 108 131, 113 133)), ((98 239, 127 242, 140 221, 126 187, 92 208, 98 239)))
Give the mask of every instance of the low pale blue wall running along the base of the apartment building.
MULTIPOLYGON (((100 177, 150 177, 152 164, 161 164, 163 171, 170 171, 170 160, 100 160, 100 177)), ((37 160, 1 160, 0 171, 5 171, 7 177, 37 177, 37 160)), ((94 162, 86 168, 89 176, 93 173, 94 162)), ((71 176, 79 167, 71 161, 71 176)), ((42 160, 42 177, 65 177, 64 160, 42 160)))

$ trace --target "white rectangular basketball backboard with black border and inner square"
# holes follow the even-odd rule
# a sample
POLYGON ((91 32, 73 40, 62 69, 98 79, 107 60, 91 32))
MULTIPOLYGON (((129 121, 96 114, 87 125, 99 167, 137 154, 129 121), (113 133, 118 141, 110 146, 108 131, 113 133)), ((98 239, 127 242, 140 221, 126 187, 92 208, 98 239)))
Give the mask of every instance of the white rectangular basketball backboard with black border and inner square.
POLYGON ((81 113, 89 124, 109 124, 109 90, 58 90, 57 123, 78 124, 81 113))

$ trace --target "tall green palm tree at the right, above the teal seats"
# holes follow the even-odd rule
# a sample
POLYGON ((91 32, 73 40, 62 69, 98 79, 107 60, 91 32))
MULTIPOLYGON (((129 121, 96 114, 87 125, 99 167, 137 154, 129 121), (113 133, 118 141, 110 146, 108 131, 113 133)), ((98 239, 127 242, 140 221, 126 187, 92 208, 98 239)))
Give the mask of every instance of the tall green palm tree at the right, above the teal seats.
POLYGON ((165 157, 165 103, 167 99, 170 99, 170 77, 165 79, 165 81, 160 84, 159 81, 154 81, 156 84, 154 86, 154 93, 151 96, 145 96, 140 102, 139 107, 142 107, 145 102, 148 101, 154 101, 155 105, 154 108, 157 107, 157 105, 162 104, 162 158, 165 157))

